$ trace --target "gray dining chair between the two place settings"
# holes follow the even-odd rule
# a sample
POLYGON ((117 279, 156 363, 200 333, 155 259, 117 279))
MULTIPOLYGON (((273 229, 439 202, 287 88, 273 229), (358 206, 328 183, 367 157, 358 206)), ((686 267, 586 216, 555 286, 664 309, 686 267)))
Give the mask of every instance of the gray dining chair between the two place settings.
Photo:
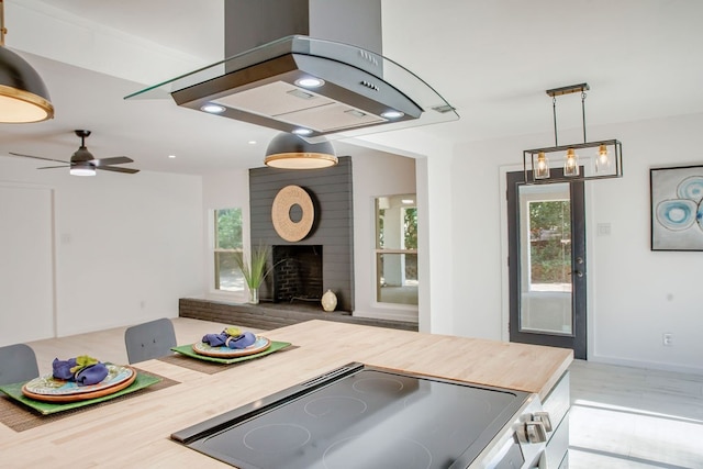
POLYGON ((174 324, 167 317, 127 327, 124 332, 130 364, 170 355, 176 346, 174 324))

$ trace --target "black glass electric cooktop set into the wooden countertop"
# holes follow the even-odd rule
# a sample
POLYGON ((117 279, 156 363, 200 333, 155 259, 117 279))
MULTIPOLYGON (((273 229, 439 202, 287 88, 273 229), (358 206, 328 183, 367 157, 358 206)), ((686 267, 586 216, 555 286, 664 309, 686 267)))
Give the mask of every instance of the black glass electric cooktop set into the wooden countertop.
POLYGON ((171 438, 242 469, 467 467, 527 397, 349 364, 171 438))

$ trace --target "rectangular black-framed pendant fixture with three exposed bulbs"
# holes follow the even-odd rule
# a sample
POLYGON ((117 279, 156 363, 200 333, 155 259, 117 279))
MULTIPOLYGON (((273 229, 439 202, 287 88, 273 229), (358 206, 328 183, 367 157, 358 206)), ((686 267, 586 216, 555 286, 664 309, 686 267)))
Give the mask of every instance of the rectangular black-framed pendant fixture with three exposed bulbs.
POLYGON ((523 152, 523 169, 526 183, 565 182, 572 180, 605 179, 623 177, 622 144, 616 139, 587 142, 585 138, 585 91, 588 83, 547 90, 551 97, 554 115, 555 146, 546 148, 526 149, 523 152), (581 92, 581 118, 583 127, 583 143, 559 145, 557 137, 557 97, 581 92), (596 148, 592 156, 579 157, 577 152, 596 148), (548 155, 557 154, 553 161, 548 155), (551 166, 556 160, 562 164, 551 166))

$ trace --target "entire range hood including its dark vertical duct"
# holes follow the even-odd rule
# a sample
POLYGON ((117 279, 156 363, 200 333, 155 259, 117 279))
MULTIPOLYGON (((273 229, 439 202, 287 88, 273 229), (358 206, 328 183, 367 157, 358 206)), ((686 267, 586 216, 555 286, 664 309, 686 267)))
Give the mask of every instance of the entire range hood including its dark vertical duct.
POLYGON ((381 55, 380 13, 380 0, 225 0, 228 58, 125 99, 167 91, 178 105, 310 142, 459 119, 381 55))

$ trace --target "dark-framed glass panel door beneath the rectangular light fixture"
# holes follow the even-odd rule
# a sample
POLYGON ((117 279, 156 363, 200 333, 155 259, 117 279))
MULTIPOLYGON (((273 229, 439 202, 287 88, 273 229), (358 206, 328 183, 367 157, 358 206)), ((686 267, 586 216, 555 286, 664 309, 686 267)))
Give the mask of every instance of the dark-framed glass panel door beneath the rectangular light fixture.
POLYGON ((524 183, 507 174, 510 339, 587 358, 583 181, 524 183))

